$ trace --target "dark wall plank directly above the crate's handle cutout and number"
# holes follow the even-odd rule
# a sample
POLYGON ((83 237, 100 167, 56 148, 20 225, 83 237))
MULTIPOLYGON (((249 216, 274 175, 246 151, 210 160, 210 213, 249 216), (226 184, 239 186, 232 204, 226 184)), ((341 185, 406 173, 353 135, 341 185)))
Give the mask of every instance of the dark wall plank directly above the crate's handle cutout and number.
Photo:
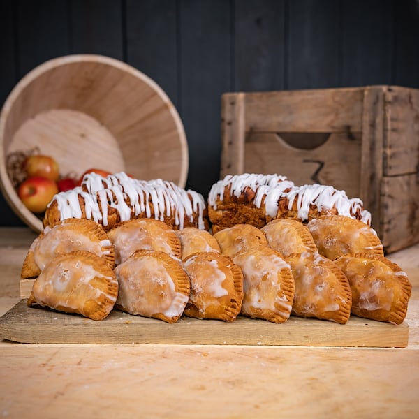
POLYGON ((339 3, 288 2, 288 89, 339 85, 339 3))

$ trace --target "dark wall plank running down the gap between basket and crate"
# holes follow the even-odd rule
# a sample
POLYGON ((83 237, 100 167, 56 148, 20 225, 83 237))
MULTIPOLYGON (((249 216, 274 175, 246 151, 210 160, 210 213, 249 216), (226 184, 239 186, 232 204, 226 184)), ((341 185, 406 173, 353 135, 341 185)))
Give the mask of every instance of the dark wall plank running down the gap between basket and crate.
POLYGON ((219 179, 221 94, 231 91, 230 2, 179 3, 180 112, 191 159, 187 187, 204 196, 219 179))

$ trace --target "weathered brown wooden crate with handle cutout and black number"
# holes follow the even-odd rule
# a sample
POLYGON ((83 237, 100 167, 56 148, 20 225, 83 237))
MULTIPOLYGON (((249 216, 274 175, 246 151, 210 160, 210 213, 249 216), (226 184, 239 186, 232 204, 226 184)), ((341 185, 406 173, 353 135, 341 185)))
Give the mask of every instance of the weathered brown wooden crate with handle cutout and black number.
POLYGON ((385 251, 419 242, 419 89, 226 93, 221 177, 277 173, 359 197, 385 251))

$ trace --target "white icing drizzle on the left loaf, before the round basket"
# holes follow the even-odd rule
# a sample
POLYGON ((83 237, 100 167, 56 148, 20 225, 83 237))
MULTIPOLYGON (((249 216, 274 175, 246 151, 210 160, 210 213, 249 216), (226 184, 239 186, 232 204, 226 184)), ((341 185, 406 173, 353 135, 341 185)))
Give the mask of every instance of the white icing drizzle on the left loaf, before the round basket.
POLYGON ((89 173, 84 176, 82 186, 54 196, 61 220, 82 218, 79 196, 84 200, 86 218, 101 222, 103 226, 108 226, 109 205, 117 210, 121 221, 129 220, 131 212, 135 216, 145 213, 147 218, 154 216, 161 221, 165 216, 174 216, 179 228, 184 227, 185 218, 192 222, 193 214, 198 213, 198 228, 205 228, 203 196, 162 179, 142 181, 124 172, 108 177, 89 173))

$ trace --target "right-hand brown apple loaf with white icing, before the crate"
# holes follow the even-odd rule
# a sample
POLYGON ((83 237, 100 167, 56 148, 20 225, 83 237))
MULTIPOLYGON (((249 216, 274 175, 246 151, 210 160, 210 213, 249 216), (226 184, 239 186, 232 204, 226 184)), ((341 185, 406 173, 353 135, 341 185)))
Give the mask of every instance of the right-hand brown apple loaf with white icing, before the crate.
POLYGON ((371 222, 359 198, 333 186, 295 186, 280 175, 227 175, 212 185, 207 206, 214 233, 240 223, 262 228, 273 219, 309 221, 333 214, 371 222))

